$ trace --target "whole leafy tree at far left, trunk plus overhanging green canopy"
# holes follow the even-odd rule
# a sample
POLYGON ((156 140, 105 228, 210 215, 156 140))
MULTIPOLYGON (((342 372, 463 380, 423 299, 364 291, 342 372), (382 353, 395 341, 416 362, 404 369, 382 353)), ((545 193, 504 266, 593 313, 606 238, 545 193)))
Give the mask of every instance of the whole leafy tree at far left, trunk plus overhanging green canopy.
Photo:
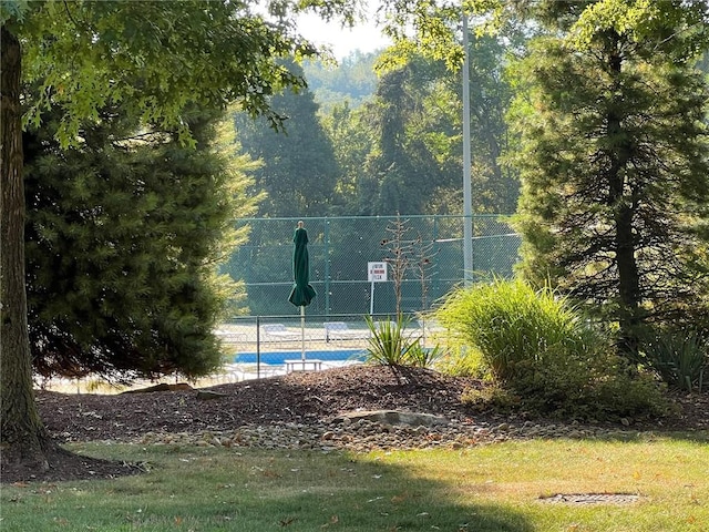
MULTIPOLYGON (((343 2, 325 6, 332 14, 343 2)), ((306 2, 306 7, 309 2, 306 2)), ((275 2, 281 9, 280 2, 275 2)), ((292 18, 267 23, 248 3, 229 1, 3 1, 0 12, 1 319, 0 464, 49 468, 51 442, 32 395, 24 291, 24 197, 21 124, 62 104, 58 137, 76 142, 81 122, 106 104, 126 102, 146 123, 177 127, 187 104, 219 108, 238 100, 254 114, 279 116, 269 95, 302 85, 276 60, 315 49, 292 30, 292 18), (22 45, 21 45, 22 43, 22 45), (138 79, 144 83, 136 86, 138 79), (23 115, 22 75, 41 84, 23 115)))

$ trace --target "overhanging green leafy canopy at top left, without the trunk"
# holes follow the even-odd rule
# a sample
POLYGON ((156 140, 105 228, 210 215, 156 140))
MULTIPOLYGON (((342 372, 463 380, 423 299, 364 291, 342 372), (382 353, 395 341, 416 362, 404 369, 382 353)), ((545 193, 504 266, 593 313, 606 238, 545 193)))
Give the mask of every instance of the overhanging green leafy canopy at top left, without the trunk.
MULTIPOLYGON (((33 3, 18 27, 25 43, 23 73, 47 90, 27 120, 37 125, 42 110, 62 104, 58 135, 64 143, 76 140, 83 120, 119 103, 145 122, 183 134, 189 103, 219 108, 238 101, 278 127, 282 116, 270 109, 270 98, 285 86, 305 85, 278 59, 316 55, 309 42, 285 31, 294 6, 278 13, 280 25, 243 2, 33 3), (140 85, 136 73, 143 75, 140 85)), ((349 10, 345 4, 328 9, 349 10)))

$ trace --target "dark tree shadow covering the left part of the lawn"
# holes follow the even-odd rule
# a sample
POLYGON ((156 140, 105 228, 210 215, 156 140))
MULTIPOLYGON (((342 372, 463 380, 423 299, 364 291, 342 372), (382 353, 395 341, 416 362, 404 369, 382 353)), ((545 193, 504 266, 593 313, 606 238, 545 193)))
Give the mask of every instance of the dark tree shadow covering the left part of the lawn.
POLYGON ((82 446, 142 460, 148 473, 112 481, 3 489, 3 532, 55 530, 531 532, 513 508, 472 487, 417 474, 405 459, 342 452, 82 446), (49 493, 48 493, 49 491, 49 493), (51 503, 48 501, 51 499, 51 503), (127 526, 127 529, 126 529, 127 526))

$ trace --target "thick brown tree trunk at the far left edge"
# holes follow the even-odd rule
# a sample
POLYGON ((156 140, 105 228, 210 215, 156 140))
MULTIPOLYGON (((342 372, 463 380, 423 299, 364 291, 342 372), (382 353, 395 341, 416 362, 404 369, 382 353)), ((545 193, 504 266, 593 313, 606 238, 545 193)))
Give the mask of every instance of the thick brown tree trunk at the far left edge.
POLYGON ((0 433, 1 463, 49 468, 50 439, 32 390, 24 290, 24 184, 20 42, 4 25, 0 43, 0 433))

